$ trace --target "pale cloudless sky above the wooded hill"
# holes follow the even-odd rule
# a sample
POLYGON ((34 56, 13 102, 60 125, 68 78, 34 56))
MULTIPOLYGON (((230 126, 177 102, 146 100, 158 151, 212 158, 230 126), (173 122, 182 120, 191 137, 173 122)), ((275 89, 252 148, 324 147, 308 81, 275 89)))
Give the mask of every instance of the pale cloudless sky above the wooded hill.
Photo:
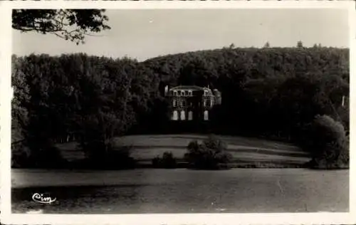
POLYGON ((77 46, 53 34, 12 31, 13 53, 94 56, 144 61, 167 54, 236 47, 349 47, 348 15, 342 9, 110 9, 109 31, 77 46))

